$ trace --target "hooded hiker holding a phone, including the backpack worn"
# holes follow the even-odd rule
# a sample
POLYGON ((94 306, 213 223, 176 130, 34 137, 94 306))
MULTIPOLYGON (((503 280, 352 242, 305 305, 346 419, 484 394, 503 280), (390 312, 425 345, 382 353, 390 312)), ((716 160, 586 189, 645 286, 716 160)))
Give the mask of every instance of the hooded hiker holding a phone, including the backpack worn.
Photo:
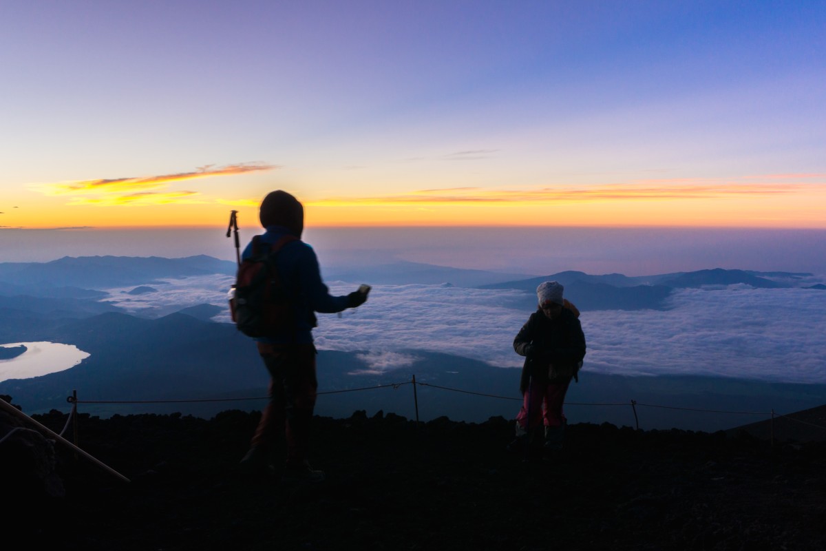
POLYGON ((316 253, 301 241, 304 207, 291 194, 269 193, 261 202, 259 219, 266 232, 256 235, 244 249, 230 304, 236 325, 255 338, 270 374, 270 400, 241 468, 251 473, 274 472, 270 455, 274 440, 283 432, 287 440, 284 476, 320 482, 324 473, 311 468, 306 457, 318 387, 312 338, 315 312, 335 313, 360 306, 367 301, 369 287, 341 297, 330 295, 316 253))

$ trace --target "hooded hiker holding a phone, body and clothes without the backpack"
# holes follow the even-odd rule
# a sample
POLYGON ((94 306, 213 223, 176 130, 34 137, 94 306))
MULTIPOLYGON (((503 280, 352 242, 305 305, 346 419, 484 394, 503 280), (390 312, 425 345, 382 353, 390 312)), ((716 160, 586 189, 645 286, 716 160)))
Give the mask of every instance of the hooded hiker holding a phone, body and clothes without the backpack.
POLYGON ((276 265, 282 288, 291 298, 293 319, 285 329, 255 339, 271 377, 270 401, 262 412, 241 467, 250 473, 274 472, 270 457, 273 440, 283 433, 287 439, 284 476, 320 482, 324 480, 324 473, 311 468, 306 458, 318 387, 316 347, 312 338, 315 312, 334 313, 360 306, 367 300, 367 292, 365 289, 343 297, 330 296, 321 280, 316 253, 310 245, 298 240, 304 229, 304 207, 295 197, 280 190, 269 193, 261 202, 259 218, 267 231, 258 240, 254 239, 256 246, 253 242, 247 245, 241 258, 249 259, 255 248, 268 252, 280 242, 282 247, 278 250, 276 265))

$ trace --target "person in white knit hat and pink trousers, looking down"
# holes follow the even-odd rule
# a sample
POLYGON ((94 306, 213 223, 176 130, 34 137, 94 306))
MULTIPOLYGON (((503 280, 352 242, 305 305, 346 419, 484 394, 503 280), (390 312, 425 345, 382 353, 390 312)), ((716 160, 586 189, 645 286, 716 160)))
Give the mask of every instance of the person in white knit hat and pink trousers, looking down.
POLYGON ((585 357, 585 335, 579 311, 563 298, 561 283, 546 281, 536 287, 536 294, 539 308, 514 339, 516 354, 525 356, 520 380, 524 399, 516 416, 516 438, 508 449, 529 446, 531 433, 544 421, 544 450, 553 453, 563 447, 563 402, 585 357))

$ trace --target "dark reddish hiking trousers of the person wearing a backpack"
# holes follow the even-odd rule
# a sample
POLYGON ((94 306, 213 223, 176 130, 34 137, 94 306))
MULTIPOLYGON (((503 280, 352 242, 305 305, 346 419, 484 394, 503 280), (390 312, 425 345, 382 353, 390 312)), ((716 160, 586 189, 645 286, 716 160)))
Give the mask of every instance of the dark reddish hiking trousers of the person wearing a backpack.
POLYGON ((269 402, 253 435, 253 446, 270 447, 283 431, 287 464, 306 459, 310 422, 316 406, 316 347, 313 344, 258 343, 269 372, 269 402))

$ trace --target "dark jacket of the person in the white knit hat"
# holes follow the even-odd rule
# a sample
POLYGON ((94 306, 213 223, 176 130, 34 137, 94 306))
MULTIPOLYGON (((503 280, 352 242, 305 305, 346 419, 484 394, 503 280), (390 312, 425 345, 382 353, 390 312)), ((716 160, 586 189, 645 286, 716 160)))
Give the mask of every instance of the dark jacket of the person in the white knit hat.
POLYGON ((525 356, 520 380, 524 393, 529 377, 537 384, 569 382, 585 357, 585 334, 570 309, 563 308, 553 320, 537 309, 516 335, 514 349, 525 356))

